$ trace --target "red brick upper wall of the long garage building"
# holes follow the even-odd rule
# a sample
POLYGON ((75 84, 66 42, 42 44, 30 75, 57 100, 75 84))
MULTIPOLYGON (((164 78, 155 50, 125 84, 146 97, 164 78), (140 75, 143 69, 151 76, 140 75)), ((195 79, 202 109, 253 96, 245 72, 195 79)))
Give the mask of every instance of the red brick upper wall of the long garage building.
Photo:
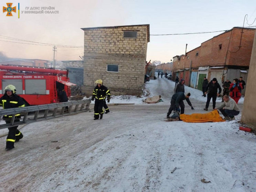
POLYGON ((172 71, 189 68, 191 61, 192 68, 201 66, 224 66, 226 55, 226 65, 249 66, 255 29, 243 30, 241 47, 239 49, 241 32, 242 29, 234 28, 203 42, 200 47, 189 51, 186 56, 182 56, 180 61, 174 61, 172 71), (222 44, 221 50, 219 48, 220 44, 222 44), (197 52, 198 56, 195 56, 197 52))

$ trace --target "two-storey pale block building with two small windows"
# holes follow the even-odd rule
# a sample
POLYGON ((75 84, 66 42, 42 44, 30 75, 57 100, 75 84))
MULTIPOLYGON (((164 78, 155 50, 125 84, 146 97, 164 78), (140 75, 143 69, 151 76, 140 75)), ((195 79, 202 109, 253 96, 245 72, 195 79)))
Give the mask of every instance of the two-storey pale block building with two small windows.
POLYGON ((149 24, 84 30, 84 86, 92 95, 102 79, 112 94, 141 94, 149 42, 149 24))

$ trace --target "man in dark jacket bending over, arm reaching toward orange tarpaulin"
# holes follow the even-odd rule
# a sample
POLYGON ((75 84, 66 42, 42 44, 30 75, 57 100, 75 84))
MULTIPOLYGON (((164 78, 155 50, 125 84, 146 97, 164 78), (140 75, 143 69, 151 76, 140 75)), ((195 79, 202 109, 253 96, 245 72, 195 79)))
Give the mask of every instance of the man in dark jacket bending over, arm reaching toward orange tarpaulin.
POLYGON ((171 106, 168 110, 167 118, 170 118, 170 114, 172 113, 173 109, 176 109, 177 112, 184 114, 185 105, 184 105, 183 100, 185 100, 185 99, 188 102, 191 109, 194 110, 194 108, 192 107, 192 104, 189 100, 189 96, 190 96, 190 93, 186 93, 186 94, 184 94, 183 92, 175 93, 171 99, 171 106))

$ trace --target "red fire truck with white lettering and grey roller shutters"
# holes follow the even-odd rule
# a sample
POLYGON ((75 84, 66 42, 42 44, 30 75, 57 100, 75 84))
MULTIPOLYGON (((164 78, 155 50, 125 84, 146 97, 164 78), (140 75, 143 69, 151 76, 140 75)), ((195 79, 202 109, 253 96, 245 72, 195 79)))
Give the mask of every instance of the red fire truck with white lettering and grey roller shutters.
POLYGON ((58 103, 57 89, 71 96, 68 70, 0 65, 0 97, 7 85, 14 85, 26 105, 58 103))

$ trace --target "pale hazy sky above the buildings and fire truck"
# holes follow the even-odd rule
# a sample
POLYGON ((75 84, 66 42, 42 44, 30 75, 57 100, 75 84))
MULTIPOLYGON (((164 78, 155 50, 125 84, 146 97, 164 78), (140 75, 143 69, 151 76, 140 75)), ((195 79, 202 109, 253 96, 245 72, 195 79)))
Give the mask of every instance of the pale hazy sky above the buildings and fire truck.
MULTIPOLYGON (((182 3, 176 0, 77 0, 75 2, 23 0, 12 3, 12 7, 16 6, 17 9, 20 3, 20 18, 18 11, 12 12, 13 17, 6 17, 6 13, 1 14, 0 53, 7 57, 18 58, 53 60, 53 45, 56 45, 57 61, 81 60, 79 56, 83 56, 84 44, 84 33, 81 28, 150 24, 151 36, 147 61, 157 60, 167 63, 172 57, 184 54, 186 44, 188 44, 187 51, 190 51, 222 32, 153 35, 230 30, 234 26, 243 26, 246 14, 248 22, 245 19, 244 26, 256 25, 254 0, 207 2, 185 0, 182 3), (54 7, 54 11, 58 13, 24 13, 28 10, 33 11, 30 10, 31 7, 39 7, 39 11, 41 7, 54 7), (50 46, 21 44, 21 42, 30 44, 39 42, 50 46)), ((6 2, 2 1, 1 6, 6 7, 6 2)))

